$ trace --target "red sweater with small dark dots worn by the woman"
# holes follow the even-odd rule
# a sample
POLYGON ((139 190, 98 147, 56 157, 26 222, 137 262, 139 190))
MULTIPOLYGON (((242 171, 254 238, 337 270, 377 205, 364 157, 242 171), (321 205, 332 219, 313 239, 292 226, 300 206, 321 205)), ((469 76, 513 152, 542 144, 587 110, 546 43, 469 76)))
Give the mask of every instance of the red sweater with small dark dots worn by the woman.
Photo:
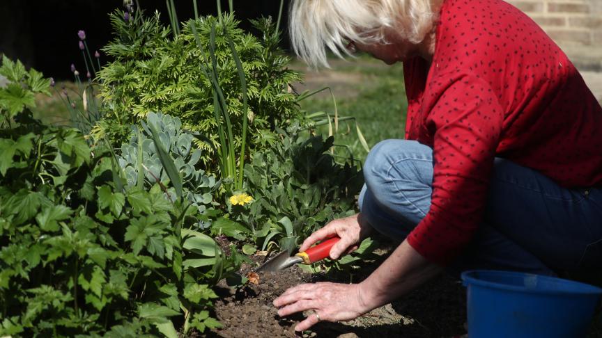
POLYGON ((406 138, 433 147, 429 213, 408 236, 445 265, 481 222, 495 156, 602 185, 602 108, 566 55, 501 0, 445 0, 435 55, 404 63, 406 138))

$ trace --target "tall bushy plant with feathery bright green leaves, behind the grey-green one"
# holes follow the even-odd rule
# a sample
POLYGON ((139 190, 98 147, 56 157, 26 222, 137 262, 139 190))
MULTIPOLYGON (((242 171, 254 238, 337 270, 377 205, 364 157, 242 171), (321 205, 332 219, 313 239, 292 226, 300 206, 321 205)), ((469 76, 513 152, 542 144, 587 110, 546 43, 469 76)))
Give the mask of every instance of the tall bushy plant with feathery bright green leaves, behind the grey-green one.
POLYGON ((200 35, 201 52, 190 22, 183 24, 176 38, 171 38, 170 29, 162 26, 157 13, 153 17, 136 13, 130 22, 123 21, 121 12, 111 15, 116 38, 103 50, 114 61, 98 74, 102 81, 101 95, 111 113, 95 127, 96 138, 106 135, 119 144, 129 138, 129 130, 123 126, 136 124, 148 111, 161 111, 177 116, 186 129, 210 140, 210 145, 198 143, 206 150, 201 162, 210 171, 217 169, 217 157, 212 154, 214 147, 221 147, 218 126, 222 121, 215 118, 213 88, 203 73, 203 67, 213 68, 209 55, 212 27, 215 27, 215 70, 231 118, 235 147, 238 149, 242 144, 245 118, 249 122, 249 147, 253 150, 274 140, 275 127, 298 116, 295 95, 288 92, 288 84, 299 81, 300 74, 286 69, 289 59, 281 53, 269 19, 254 22, 262 32, 261 38, 239 29, 232 15, 197 19, 194 25, 200 35), (247 79, 246 117, 230 40, 247 79))

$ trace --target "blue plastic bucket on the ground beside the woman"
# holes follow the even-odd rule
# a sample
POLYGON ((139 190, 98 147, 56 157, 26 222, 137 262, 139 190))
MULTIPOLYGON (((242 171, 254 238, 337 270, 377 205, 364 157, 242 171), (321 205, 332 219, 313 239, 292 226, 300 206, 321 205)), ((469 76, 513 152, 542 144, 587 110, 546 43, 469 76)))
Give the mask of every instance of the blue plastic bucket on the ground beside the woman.
POLYGON ((585 337, 602 289, 560 278, 466 271, 468 336, 585 337))

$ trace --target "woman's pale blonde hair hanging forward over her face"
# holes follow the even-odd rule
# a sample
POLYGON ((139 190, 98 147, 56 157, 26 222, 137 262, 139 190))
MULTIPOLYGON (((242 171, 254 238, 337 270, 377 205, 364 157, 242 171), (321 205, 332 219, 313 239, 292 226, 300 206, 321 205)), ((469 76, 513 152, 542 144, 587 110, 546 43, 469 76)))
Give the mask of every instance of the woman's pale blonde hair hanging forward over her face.
POLYGON ((431 0, 293 0, 291 45, 311 67, 329 67, 326 47, 343 58, 348 41, 388 43, 385 29, 417 44, 433 27, 432 7, 431 0))

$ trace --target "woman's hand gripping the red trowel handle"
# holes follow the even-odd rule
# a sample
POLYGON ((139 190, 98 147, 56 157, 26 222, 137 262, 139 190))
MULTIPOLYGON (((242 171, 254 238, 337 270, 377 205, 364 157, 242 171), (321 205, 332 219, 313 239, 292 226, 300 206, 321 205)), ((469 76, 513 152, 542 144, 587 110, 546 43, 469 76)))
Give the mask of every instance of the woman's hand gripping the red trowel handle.
POLYGON ((341 237, 330 249, 330 259, 339 259, 341 255, 353 252, 358 248, 362 239, 372 231, 372 227, 362 222, 362 214, 355 214, 346 218, 332 220, 325 227, 317 230, 303 241, 299 251, 309 249, 314 243, 329 239, 333 236, 341 237))

